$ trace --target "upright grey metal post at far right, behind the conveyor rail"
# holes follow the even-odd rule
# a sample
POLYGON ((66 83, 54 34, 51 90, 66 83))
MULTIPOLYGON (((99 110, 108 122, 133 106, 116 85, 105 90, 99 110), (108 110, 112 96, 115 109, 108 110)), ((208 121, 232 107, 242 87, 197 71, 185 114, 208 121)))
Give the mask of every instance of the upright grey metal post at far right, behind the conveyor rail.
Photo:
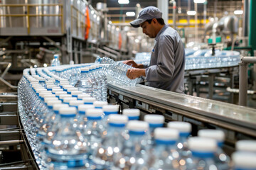
POLYGON ((239 105, 247 106, 247 65, 239 63, 239 105))

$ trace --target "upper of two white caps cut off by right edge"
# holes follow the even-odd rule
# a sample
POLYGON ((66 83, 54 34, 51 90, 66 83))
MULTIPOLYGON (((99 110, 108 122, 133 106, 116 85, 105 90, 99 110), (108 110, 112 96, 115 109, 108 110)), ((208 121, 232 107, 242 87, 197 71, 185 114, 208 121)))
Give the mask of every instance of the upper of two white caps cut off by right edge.
POLYGON ((256 153, 256 140, 239 140, 235 143, 235 149, 237 149, 238 151, 256 153))

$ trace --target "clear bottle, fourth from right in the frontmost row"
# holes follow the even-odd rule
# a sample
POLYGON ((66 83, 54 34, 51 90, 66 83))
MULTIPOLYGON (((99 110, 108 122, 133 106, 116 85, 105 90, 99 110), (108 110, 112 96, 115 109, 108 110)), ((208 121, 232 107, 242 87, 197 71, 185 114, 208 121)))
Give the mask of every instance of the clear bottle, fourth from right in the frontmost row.
POLYGON ((145 134, 149 124, 144 121, 130 120, 127 123, 128 140, 124 142, 121 154, 114 158, 118 169, 147 169, 149 153, 146 152, 145 134))

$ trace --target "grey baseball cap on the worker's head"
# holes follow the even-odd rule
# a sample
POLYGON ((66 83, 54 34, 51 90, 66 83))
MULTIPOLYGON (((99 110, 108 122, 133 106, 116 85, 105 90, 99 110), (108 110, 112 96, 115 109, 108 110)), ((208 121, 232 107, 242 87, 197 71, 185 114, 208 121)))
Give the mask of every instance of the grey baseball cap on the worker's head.
POLYGON ((134 28, 138 28, 139 24, 144 23, 146 20, 151 20, 153 18, 162 18, 161 11, 159 8, 156 8, 154 6, 148 6, 146 8, 143 8, 142 11, 139 12, 139 16, 136 20, 130 22, 131 26, 134 28))

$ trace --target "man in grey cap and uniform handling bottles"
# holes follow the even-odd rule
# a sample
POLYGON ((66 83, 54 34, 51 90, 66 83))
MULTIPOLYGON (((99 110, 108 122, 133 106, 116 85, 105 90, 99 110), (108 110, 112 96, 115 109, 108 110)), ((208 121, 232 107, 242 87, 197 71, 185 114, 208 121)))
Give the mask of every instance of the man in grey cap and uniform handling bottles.
POLYGON ((183 94, 185 51, 177 31, 164 23, 161 11, 154 6, 143 8, 130 24, 134 28, 142 27, 143 33, 155 40, 149 66, 134 60, 124 61, 135 68, 128 69, 127 77, 144 76, 149 86, 183 94))

